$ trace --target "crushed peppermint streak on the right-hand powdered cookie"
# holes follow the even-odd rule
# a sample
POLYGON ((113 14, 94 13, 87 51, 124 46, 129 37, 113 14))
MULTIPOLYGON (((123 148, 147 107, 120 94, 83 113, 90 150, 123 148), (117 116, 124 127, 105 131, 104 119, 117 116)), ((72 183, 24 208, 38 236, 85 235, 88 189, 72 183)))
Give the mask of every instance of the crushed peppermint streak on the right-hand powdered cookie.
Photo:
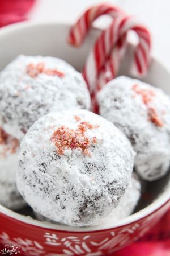
POLYGON ((141 95, 143 103, 147 106, 148 119, 156 126, 163 127, 163 121, 159 118, 157 110, 150 106, 150 103, 155 97, 154 91, 151 89, 141 89, 138 84, 133 85, 133 90, 135 93, 141 95))

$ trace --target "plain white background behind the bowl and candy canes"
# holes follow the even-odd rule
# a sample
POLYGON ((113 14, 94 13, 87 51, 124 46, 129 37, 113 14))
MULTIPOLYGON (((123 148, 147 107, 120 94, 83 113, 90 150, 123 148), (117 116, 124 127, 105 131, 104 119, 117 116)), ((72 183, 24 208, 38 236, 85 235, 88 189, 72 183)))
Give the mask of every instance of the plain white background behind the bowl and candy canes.
POLYGON ((169 0, 37 0, 28 14, 32 20, 56 20, 74 23, 89 6, 108 2, 138 16, 152 32, 153 52, 170 68, 170 1, 169 0))

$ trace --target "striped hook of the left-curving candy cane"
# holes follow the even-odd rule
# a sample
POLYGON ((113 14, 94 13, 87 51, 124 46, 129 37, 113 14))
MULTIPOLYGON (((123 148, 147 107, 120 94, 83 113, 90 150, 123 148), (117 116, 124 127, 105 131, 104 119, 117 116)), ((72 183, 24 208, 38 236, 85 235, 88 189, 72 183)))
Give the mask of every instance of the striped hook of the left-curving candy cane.
POLYGON ((120 15, 124 15, 124 11, 120 8, 103 3, 89 8, 71 27, 68 41, 73 46, 80 46, 83 40, 86 38, 88 31, 91 28, 92 23, 101 15, 110 15, 112 18, 117 18, 120 15))

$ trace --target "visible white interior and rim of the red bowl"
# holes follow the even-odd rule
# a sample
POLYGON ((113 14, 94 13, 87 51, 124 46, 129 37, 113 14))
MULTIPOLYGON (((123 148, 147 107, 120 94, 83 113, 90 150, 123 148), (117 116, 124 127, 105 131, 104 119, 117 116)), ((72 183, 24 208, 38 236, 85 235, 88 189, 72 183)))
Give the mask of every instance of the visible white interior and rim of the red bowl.
MULTIPOLYGON (((83 46, 80 48, 74 48, 67 44, 67 35, 69 32, 69 24, 58 24, 58 23, 20 23, 12 26, 3 28, 0 32, 0 71, 8 64, 14 57, 23 53, 25 55, 42 55, 42 56, 55 56, 59 57, 71 65, 73 65, 78 71, 83 67, 84 61, 92 44, 94 43, 100 30, 92 29, 90 35, 83 46)), ((119 75, 128 75, 129 63, 131 60, 131 53, 133 46, 129 44, 128 51, 122 64, 119 75)), ((164 65, 155 57, 152 58, 150 70, 147 76, 142 79, 143 81, 149 82, 154 86, 158 86, 170 94, 170 72, 164 67, 164 65)), ((170 173, 158 181, 152 183, 143 183, 142 197, 135 210, 135 214, 127 217, 124 220, 118 221, 116 226, 122 225, 125 222, 132 221, 133 218, 140 218, 142 214, 147 214, 149 211, 152 212, 154 208, 160 207, 166 200, 169 199, 170 194, 170 173), (154 202, 154 203, 153 203, 154 202), (147 210, 148 209, 148 210, 147 210)), ((5 209, 0 205, 0 212, 4 212, 12 217, 18 218, 25 222, 28 222, 24 216, 32 216, 35 218, 31 208, 27 207, 19 210, 18 213, 13 213, 8 209, 5 209)), ((33 221, 29 219, 32 224, 42 225, 40 221, 33 221)), ((63 225, 55 224, 43 224, 54 229, 65 229, 65 230, 80 230, 78 228, 71 228, 63 225)), ((115 226, 115 225, 114 225, 115 226)), ((109 226, 96 226, 95 228, 85 229, 104 229, 112 228, 113 225, 109 226)))

